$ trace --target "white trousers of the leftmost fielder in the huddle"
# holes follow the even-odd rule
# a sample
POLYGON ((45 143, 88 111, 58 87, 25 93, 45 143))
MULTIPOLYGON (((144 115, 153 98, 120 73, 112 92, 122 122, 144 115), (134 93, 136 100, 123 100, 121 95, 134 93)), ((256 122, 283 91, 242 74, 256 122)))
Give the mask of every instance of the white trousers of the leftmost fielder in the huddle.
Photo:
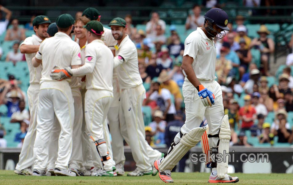
POLYGON ((28 108, 30 110, 31 119, 28 126, 27 135, 24 138, 23 146, 19 155, 19 161, 16 164, 16 170, 23 170, 34 164, 34 144, 37 131, 37 106, 39 101, 39 84, 30 84, 27 89, 28 108))

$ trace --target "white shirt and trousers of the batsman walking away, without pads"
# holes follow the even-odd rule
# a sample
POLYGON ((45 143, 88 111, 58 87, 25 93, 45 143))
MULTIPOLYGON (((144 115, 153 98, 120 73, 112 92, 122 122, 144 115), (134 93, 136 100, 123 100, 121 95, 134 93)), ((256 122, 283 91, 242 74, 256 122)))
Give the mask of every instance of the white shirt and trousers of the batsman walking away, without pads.
MULTIPOLYGON (((205 107, 200 97, 198 96, 197 89, 189 82, 185 75, 183 84, 183 96, 185 103, 186 121, 181 127, 182 134, 188 133, 190 130, 200 127, 203 118, 206 117, 208 121, 208 135, 219 134, 221 127, 221 119, 224 116, 224 107, 222 99, 222 90, 220 84, 215 81, 215 64, 216 64, 216 47, 213 40, 208 39, 201 28, 193 31, 184 42, 184 56, 188 55, 194 59, 192 68, 200 83, 213 92, 215 96, 215 105, 212 107, 205 107)), ((174 143, 180 141, 180 133, 174 138, 174 143)), ((209 138, 209 147, 216 147, 219 138, 209 138)), ((169 149, 169 151, 171 151, 169 149)), ((172 155, 170 153, 168 155, 172 155)))

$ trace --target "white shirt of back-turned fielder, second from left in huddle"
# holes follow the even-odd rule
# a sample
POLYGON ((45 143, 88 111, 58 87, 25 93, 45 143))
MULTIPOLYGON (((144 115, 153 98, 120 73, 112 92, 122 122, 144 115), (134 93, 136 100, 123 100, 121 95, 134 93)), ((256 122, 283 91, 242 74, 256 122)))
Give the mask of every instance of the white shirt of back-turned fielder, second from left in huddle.
POLYGON ((35 57, 42 60, 43 64, 40 84, 44 81, 57 81, 50 76, 55 65, 66 68, 81 64, 79 45, 63 32, 57 32, 54 37, 45 39, 35 57))

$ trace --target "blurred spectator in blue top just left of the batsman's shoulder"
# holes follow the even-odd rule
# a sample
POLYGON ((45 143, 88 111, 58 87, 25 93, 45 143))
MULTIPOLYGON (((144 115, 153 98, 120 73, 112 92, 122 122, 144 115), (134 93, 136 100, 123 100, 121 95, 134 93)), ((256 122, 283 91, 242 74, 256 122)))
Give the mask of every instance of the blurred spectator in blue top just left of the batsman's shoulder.
POLYGON ((171 44, 168 45, 169 53, 171 57, 178 57, 179 55, 183 55, 184 52, 184 44, 181 43, 178 34, 172 33, 171 35, 171 44))

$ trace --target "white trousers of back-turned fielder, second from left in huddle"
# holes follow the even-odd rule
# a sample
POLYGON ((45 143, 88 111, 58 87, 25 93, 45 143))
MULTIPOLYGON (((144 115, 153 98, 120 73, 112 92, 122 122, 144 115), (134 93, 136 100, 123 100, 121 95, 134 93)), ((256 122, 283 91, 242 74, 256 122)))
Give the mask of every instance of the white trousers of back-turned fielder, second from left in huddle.
POLYGON ((48 164, 48 142, 56 115, 61 131, 58 140, 58 157, 55 167, 68 169, 72 152, 72 125, 74 106, 71 88, 66 81, 43 82, 39 94, 37 134, 34 145, 35 169, 46 170, 48 164), (56 84, 53 88, 52 84, 56 84), (43 89, 42 89, 43 87, 43 89), (47 88, 46 88, 47 87, 47 88), (59 89, 56 89, 56 88, 59 89))

